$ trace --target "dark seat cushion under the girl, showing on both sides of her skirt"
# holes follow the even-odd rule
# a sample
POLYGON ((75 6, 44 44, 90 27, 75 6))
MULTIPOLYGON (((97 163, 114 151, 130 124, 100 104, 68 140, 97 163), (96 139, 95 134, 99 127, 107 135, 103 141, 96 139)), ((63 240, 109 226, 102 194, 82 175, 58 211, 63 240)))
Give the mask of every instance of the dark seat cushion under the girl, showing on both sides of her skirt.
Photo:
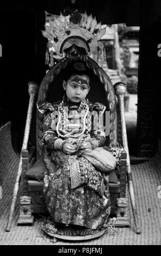
MULTIPOLYGON (((37 160, 33 166, 26 172, 29 179, 42 181, 44 179, 44 173, 46 170, 46 165, 43 159, 37 160)), ((115 170, 112 170, 109 174, 109 183, 115 183, 119 181, 115 170)))

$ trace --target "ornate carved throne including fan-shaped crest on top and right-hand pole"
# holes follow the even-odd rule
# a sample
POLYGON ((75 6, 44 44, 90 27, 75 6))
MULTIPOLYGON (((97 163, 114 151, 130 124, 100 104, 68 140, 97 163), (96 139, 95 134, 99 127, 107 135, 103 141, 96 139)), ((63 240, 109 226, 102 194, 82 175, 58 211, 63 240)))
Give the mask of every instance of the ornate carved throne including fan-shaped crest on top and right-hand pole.
MULTIPOLYGON (((80 15, 80 14, 79 14, 80 15)), ((105 32, 96 19, 86 14, 80 15, 78 23, 73 23, 72 19, 60 15, 58 20, 50 22, 46 31, 42 32, 48 38, 49 48, 54 47, 55 52, 62 59, 52 66, 47 72, 39 86, 37 101, 54 102, 63 97, 63 77, 66 69, 72 66, 77 60, 82 60, 89 70, 91 79, 91 89, 89 100, 91 102, 101 102, 109 111, 109 132, 107 134, 107 145, 119 143, 123 148, 120 156, 120 167, 109 174, 109 190, 112 202, 111 215, 116 217, 116 225, 128 226, 127 216, 127 184, 131 198, 135 228, 139 234, 137 210, 135 208, 135 198, 132 184, 131 166, 127 145, 126 125, 124 118, 123 95, 126 92, 126 85, 116 83, 113 87, 106 72, 88 55, 97 41, 105 32), (80 17, 81 16, 81 17, 80 17), (58 28, 60 29, 58 31, 58 28)), ((72 16, 71 16, 72 17, 72 16)), ((52 51, 52 50, 51 50, 52 51)), ((30 94, 35 94, 34 83, 30 83, 30 94), (32 88, 33 87, 33 88, 32 88)), ((32 223, 33 214, 46 213, 46 205, 43 196, 43 178, 45 164, 43 161, 44 145, 43 135, 43 114, 37 111, 36 114, 36 156, 28 154, 27 149, 22 149, 22 197, 20 201, 19 224, 32 223), (28 207, 23 205, 28 202, 28 207), (28 210, 27 210, 28 209, 28 210)))

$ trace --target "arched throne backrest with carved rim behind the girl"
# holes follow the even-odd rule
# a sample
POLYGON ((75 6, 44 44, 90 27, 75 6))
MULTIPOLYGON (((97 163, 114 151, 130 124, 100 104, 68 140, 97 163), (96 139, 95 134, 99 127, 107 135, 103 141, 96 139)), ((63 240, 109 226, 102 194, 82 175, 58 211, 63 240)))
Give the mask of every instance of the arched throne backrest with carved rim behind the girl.
MULTIPOLYGON (((61 59, 56 65, 51 68, 42 80, 38 101, 59 101, 62 99, 64 91, 62 87, 63 72, 68 65, 72 65, 78 57, 70 57, 61 59)), ((117 105, 114 87, 106 72, 98 66, 98 64, 88 57, 85 60, 86 66, 91 75, 91 88, 88 98, 91 102, 101 102, 106 106, 106 111, 110 112, 110 128, 109 136, 107 138, 108 144, 116 144, 117 136, 117 105)), ((36 142, 37 142, 37 158, 39 158, 43 151, 42 136, 43 136, 43 122, 44 115, 37 111, 36 118, 36 142)))

